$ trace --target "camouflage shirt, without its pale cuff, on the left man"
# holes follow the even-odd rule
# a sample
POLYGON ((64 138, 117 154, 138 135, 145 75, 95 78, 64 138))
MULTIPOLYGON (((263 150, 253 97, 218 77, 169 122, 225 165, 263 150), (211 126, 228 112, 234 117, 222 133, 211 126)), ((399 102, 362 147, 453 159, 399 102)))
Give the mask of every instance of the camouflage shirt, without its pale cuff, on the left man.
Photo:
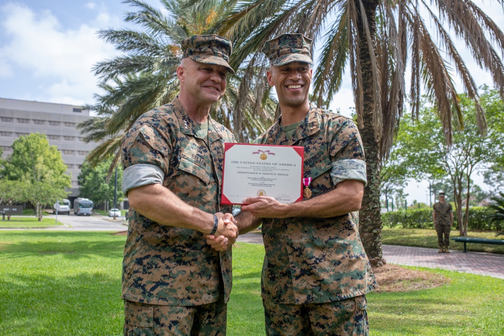
MULTIPOLYGON (((150 164, 164 172, 163 186, 208 213, 220 206, 224 142, 232 133, 209 116, 208 140, 178 99, 141 116, 123 141, 122 164, 150 164)), ((130 209, 124 247, 122 298, 154 305, 205 305, 231 291, 231 248, 217 252, 198 231, 155 223, 130 209)))

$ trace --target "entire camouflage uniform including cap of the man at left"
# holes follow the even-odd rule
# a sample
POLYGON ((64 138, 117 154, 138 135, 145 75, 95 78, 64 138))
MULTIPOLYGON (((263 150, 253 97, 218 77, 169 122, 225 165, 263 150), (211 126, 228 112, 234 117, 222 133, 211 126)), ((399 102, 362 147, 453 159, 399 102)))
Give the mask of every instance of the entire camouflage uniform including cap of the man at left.
MULTIPOLYGON (((231 42, 194 35, 181 42, 182 58, 218 64, 231 42)), ((224 142, 232 133, 208 116, 199 132, 178 98, 142 115, 122 142, 123 191, 161 183, 186 204, 210 214, 220 206, 224 142)), ((223 335, 231 291, 231 248, 215 251, 203 233, 156 223, 129 211, 122 265, 125 335, 223 335)))

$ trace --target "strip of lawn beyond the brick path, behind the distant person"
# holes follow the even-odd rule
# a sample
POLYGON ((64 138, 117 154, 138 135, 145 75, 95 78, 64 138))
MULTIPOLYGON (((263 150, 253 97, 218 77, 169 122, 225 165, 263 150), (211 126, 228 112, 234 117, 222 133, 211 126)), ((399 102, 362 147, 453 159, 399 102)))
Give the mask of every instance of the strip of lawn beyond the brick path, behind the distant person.
MULTIPOLYGON (((453 230, 450 232, 451 237, 458 237, 459 231, 453 230)), ((468 237, 488 238, 488 239, 504 239, 504 236, 495 236, 493 231, 469 231, 468 237)), ((382 229, 382 243, 389 245, 403 245, 403 246, 417 246, 439 248, 437 245, 437 234, 434 229, 402 229, 402 228, 389 228, 382 229)), ((450 249, 464 250, 464 243, 459 243, 450 240, 450 249)), ((474 252, 489 252, 504 254, 504 245, 489 245, 489 244, 467 244, 468 251, 474 252)))

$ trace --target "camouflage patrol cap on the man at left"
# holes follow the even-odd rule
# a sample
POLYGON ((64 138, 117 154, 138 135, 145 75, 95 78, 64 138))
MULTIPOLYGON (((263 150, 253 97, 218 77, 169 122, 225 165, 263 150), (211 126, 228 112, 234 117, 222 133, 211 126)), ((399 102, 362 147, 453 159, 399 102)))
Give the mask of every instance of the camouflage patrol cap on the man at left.
POLYGON ((197 62, 225 66, 231 74, 229 56, 233 51, 231 41, 218 35, 193 35, 180 42, 182 58, 189 57, 197 62))

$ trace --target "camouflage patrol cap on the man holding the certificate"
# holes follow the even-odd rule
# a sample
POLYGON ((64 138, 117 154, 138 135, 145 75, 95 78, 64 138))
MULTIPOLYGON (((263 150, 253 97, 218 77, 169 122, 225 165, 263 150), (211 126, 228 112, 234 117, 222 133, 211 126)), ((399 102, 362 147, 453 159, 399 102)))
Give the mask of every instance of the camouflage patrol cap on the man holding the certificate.
POLYGON ((313 64, 310 47, 311 39, 303 34, 282 34, 266 41, 263 52, 274 66, 294 61, 313 64))

